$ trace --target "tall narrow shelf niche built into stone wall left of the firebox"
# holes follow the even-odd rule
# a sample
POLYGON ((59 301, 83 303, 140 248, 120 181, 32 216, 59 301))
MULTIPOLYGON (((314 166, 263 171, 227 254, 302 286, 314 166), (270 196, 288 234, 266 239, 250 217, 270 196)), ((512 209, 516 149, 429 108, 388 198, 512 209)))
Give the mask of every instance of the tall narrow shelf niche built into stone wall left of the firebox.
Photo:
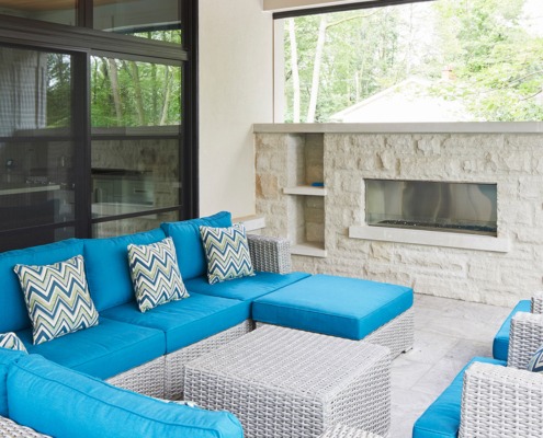
POLYGON ((287 149, 289 238, 296 255, 326 257, 324 135, 290 138, 287 149))

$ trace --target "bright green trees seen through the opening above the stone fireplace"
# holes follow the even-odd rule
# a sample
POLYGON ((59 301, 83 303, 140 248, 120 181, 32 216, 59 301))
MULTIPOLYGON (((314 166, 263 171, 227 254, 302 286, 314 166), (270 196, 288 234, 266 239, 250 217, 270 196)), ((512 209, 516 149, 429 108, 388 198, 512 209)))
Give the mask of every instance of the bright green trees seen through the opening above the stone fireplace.
MULTIPOLYGON (((542 119, 543 38, 527 31, 524 3, 439 0, 327 14, 321 56, 316 49, 323 18, 295 19, 297 60, 285 57, 285 119, 293 120, 299 92, 301 122, 306 120, 316 62, 317 122, 409 77, 433 81, 432 94, 461 100, 474 119, 542 119), (299 90, 293 87, 293 62, 299 90), (445 66, 456 80, 439 82, 445 66)), ((285 54, 291 44, 285 32, 285 54)))

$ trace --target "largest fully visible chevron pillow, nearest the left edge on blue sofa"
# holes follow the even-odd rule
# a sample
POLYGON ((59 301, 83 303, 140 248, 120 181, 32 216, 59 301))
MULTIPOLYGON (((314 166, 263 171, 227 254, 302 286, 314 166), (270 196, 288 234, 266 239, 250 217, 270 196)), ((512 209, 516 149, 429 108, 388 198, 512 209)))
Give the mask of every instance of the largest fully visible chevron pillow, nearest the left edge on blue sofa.
POLYGON ((34 345, 98 324, 81 255, 46 266, 16 265, 34 345))

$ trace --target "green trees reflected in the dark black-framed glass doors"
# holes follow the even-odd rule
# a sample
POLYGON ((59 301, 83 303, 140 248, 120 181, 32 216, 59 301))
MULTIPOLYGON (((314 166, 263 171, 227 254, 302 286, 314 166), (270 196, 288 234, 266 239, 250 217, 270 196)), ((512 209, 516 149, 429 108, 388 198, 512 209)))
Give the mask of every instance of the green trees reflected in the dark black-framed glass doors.
MULTIPOLYGON (((136 36, 181 44, 179 31, 146 32, 136 36)), ((72 73, 69 55, 48 55, 48 127, 66 127, 71 123, 72 73)), ((181 123, 181 67, 92 56, 90 76, 92 126, 181 123)))

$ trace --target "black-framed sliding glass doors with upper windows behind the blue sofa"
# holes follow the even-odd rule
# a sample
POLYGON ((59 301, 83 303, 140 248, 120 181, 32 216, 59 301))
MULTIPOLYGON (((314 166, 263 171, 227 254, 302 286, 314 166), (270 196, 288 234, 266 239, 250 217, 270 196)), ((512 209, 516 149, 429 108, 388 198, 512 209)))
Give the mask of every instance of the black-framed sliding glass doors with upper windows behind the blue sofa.
POLYGON ((0 0, 0 251, 196 216, 197 1, 43 3, 0 0))

